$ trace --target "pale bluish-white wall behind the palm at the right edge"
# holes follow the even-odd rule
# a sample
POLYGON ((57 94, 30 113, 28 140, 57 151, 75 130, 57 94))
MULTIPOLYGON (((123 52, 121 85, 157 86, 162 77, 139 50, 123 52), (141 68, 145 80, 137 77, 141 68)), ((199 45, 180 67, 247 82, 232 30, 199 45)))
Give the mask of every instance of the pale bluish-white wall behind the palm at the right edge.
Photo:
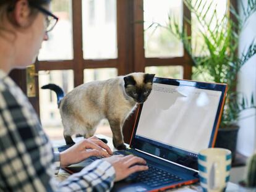
MULTIPOLYGON (((239 1, 240 2, 240 1, 239 1)), ((247 0, 242 0, 247 6, 247 0)), ((240 6, 241 8, 241 6, 240 6)), ((241 10, 241 9, 240 9, 241 10)), ((241 33, 241 39, 239 44, 239 54, 241 55, 244 48, 256 39, 256 27, 255 27, 256 13, 254 13, 245 25, 244 30, 241 33)), ((256 42, 256 41, 255 41, 256 42)), ((242 91, 247 96, 254 92, 254 98, 256 100, 256 56, 252 57, 241 69, 238 76, 239 85, 237 90, 242 91)), ((250 156, 256 149, 256 110, 250 109, 241 113, 241 119, 239 120, 239 135, 237 141, 237 151, 241 152, 245 156, 250 156), (248 118, 243 118, 250 116, 248 118)))

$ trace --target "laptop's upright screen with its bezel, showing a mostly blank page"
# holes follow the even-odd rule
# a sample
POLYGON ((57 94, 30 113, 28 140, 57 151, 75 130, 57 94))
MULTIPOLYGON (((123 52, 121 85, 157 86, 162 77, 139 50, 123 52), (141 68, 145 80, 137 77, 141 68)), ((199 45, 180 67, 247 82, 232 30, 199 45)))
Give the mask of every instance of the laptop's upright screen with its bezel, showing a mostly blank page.
POLYGON ((132 148, 197 169, 213 146, 226 85, 155 78, 140 106, 132 148))

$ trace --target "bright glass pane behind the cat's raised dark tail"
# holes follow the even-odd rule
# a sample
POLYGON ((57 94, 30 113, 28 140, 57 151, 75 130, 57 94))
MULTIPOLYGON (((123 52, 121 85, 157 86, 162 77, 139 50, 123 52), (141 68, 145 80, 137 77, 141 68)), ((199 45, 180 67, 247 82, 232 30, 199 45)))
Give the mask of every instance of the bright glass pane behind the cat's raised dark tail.
POLYGON ((62 140, 63 128, 59 114, 57 97, 54 91, 42 90, 41 86, 48 83, 59 85, 65 93, 74 88, 73 70, 51 70, 39 72, 40 119, 46 134, 54 140, 62 140))

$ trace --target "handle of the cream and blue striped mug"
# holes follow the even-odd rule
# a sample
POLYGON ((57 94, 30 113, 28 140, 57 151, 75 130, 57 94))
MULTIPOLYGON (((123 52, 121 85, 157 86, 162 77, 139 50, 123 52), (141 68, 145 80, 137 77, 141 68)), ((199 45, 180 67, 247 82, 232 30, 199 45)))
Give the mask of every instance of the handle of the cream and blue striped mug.
POLYGON ((211 169, 209 173, 209 186, 211 190, 218 190, 220 187, 220 171, 218 171, 218 167, 220 166, 220 162, 213 162, 211 164, 211 169))

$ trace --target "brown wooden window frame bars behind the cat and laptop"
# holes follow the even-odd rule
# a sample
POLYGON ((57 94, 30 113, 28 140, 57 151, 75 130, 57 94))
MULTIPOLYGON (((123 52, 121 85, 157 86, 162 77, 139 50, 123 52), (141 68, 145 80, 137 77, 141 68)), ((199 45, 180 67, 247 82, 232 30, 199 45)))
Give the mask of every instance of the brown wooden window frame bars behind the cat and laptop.
MULTIPOLYGON (((136 21, 143 20, 143 0, 116 1, 117 11, 117 58, 116 59, 83 59, 82 44, 82 0, 72 1, 72 28, 74 59, 64 61, 38 61, 36 70, 73 70, 74 87, 83 83, 84 69, 100 69, 114 67, 117 75, 131 72, 145 72, 148 66, 181 65, 186 79, 191 78, 192 65, 184 50, 184 56, 172 58, 145 58, 143 25, 136 21), (74 30, 75 29, 75 30, 74 30)), ((183 3, 183 13, 190 19, 190 12, 183 3)), ((182 17, 183 25, 190 26, 182 17)), ((39 96, 38 96, 39 97, 39 96)), ((39 103, 39 99, 38 99, 39 103)), ((129 143, 135 122, 135 114, 126 121, 123 133, 124 141, 129 143)))

